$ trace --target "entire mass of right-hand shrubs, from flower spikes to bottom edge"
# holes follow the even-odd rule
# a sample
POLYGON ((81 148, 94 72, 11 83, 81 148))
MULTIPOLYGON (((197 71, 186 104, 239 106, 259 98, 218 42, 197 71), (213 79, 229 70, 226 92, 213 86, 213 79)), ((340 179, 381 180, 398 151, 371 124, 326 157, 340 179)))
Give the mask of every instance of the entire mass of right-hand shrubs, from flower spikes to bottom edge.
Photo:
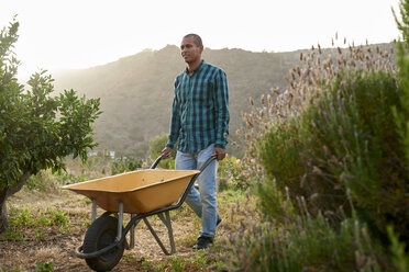
MULTIPOLYGON (((399 29, 407 32, 408 1, 400 11, 399 29)), ((290 70, 287 91, 263 95, 262 107, 251 101, 240 133, 264 220, 231 240, 241 245, 232 248, 235 267, 407 270, 405 43, 398 43, 398 66, 394 50, 352 44, 346 54, 338 48, 323 57, 312 47, 290 70)))

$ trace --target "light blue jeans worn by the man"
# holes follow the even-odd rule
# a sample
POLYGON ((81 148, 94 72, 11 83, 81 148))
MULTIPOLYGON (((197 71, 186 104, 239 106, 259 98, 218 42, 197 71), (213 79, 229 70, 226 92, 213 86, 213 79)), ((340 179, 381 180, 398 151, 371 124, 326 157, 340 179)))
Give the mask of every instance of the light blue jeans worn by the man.
MULTIPOLYGON (((211 157, 214 145, 211 144, 206 149, 198 152, 176 154, 177 170, 196 170, 211 157)), ((218 217, 215 200, 215 172, 218 161, 213 160, 203 172, 198 177, 199 192, 195 186, 186 197, 186 203, 194 209, 195 214, 201 218, 200 235, 213 238, 215 235, 215 222, 218 217)))

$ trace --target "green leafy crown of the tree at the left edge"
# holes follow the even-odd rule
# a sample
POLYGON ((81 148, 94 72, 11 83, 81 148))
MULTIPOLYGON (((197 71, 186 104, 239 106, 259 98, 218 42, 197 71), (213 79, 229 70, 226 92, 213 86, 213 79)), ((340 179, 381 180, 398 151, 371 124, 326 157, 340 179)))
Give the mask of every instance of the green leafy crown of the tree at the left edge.
POLYGON ((7 199, 30 175, 63 170, 69 155, 87 159, 88 148, 97 145, 91 123, 101 113, 99 99, 78 98, 74 90, 51 95, 54 80, 46 71, 34 73, 24 90, 12 50, 18 30, 14 19, 0 32, 0 231, 7 226, 7 199))

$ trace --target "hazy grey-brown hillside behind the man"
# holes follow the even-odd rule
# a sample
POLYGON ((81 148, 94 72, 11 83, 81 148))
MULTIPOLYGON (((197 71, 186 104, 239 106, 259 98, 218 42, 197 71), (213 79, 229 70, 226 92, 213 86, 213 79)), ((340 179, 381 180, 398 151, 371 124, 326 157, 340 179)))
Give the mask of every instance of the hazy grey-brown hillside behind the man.
MULTIPOLYGON (((230 91, 230 141, 236 140, 241 113, 248 98, 284 88, 288 70, 299 64, 301 50, 253 53, 243 49, 204 49, 203 59, 228 75, 230 91)), ((75 89, 88 98, 101 98, 103 113, 95 124, 99 149, 143 157, 147 141, 167 133, 175 77, 185 68, 177 46, 144 50, 118 61, 54 75, 57 91, 75 89)), ((240 155, 232 147, 228 150, 240 155)))

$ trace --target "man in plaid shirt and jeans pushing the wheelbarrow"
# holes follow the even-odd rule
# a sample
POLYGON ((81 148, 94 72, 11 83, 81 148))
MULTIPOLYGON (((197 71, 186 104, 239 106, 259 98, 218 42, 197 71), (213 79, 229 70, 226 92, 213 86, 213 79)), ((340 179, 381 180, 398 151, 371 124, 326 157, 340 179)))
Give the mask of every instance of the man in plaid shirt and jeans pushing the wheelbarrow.
MULTIPOLYGON (((176 169, 194 170, 211 156, 225 157, 229 135, 229 91, 225 72, 201 59, 203 45, 197 34, 186 35, 180 54, 186 70, 175 80, 170 133, 163 158, 168 158, 177 140, 176 169)), ((198 178, 199 192, 191 188, 186 202, 201 218, 200 237, 195 249, 213 243, 215 227, 221 222, 217 213, 215 173, 213 161, 198 178)))

